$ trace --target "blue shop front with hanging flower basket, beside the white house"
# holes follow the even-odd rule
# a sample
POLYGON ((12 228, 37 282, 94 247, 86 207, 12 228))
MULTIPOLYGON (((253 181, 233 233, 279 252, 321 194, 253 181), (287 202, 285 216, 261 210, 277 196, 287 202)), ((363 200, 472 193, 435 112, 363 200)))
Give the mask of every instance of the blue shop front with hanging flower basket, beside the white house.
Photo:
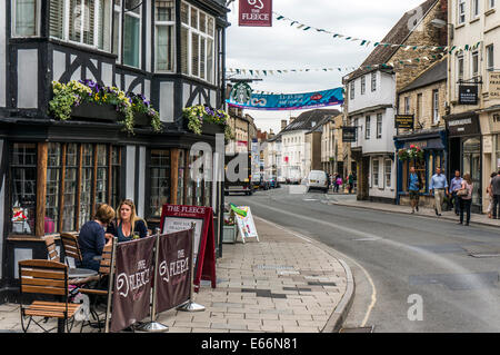
POLYGON ((422 180, 420 206, 432 207, 434 199, 429 195, 429 181, 436 168, 446 170, 448 161, 447 132, 444 129, 426 129, 394 137, 396 150, 421 149, 420 158, 401 158, 398 155, 398 205, 410 205, 409 176, 414 167, 422 180))

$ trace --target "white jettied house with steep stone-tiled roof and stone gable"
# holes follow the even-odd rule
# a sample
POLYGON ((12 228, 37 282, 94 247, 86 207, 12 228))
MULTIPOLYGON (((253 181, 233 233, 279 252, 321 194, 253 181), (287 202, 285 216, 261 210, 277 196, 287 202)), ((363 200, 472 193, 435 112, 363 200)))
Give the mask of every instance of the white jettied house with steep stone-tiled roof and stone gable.
POLYGON ((396 91, 443 52, 446 28, 431 21, 446 18, 446 6, 447 0, 427 0, 404 13, 361 67, 343 79, 344 120, 357 127, 357 141, 350 148, 357 161, 358 199, 397 201, 396 91))

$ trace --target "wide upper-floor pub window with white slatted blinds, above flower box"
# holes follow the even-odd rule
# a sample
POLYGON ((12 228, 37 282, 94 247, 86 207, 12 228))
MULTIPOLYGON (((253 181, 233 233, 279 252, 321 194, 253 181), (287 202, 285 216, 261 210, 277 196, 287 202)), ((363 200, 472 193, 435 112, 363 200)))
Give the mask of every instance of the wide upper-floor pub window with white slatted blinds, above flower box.
POLYGON ((111 0, 51 0, 50 37, 110 51, 111 4, 111 0))

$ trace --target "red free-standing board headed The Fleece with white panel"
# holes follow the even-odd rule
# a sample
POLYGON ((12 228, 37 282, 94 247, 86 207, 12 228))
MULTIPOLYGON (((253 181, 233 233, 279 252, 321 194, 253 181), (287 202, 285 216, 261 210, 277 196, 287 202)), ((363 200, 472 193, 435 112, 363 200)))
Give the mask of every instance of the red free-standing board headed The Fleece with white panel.
POLYGON ((211 207, 163 205, 160 228, 170 234, 194 227, 194 279, 199 290, 201 279, 211 280, 216 288, 216 237, 211 207))

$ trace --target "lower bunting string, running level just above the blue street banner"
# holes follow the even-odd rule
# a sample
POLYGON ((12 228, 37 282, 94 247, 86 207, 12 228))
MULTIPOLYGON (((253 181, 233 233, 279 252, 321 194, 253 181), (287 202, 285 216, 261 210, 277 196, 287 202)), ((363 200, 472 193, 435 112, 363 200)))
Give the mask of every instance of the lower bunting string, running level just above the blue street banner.
POLYGON ((311 71, 354 71, 357 69, 378 69, 378 68, 396 68, 398 65, 411 65, 419 63, 421 61, 439 60, 444 58, 447 55, 436 53, 430 56, 423 56, 420 58, 401 59, 393 60, 382 65, 362 66, 362 67, 334 67, 334 68, 317 68, 317 69, 241 69, 241 68, 228 68, 226 73, 230 75, 250 75, 250 76, 274 76, 274 75, 288 75, 288 73, 299 73, 299 72, 311 72, 311 71))

